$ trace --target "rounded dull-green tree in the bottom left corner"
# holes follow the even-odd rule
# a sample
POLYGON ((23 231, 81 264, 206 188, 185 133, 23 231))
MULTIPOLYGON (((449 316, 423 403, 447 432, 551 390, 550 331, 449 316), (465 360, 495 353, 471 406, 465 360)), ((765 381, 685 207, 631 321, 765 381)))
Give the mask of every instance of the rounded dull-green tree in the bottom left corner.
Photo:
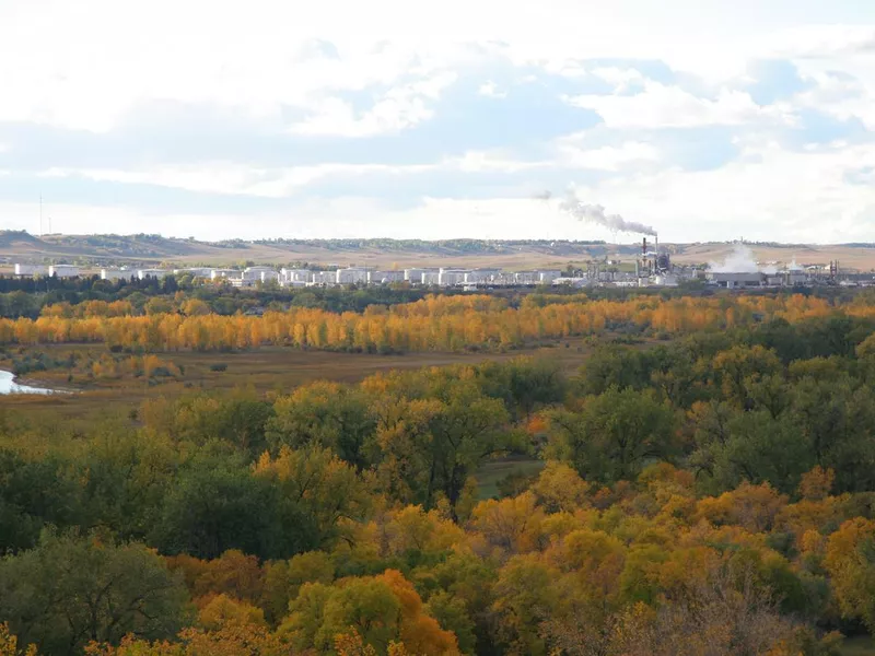
POLYGON ((24 643, 79 654, 125 634, 165 639, 185 625, 187 593, 142 544, 44 531, 39 544, 0 561, 0 617, 24 643))

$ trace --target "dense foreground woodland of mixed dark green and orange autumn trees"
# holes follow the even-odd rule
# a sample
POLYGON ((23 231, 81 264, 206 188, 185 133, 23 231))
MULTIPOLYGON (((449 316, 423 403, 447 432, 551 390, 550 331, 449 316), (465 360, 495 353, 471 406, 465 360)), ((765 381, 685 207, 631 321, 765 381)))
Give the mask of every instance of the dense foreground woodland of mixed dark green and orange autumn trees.
POLYGON ((50 654, 838 655, 875 630, 875 336, 803 315, 573 376, 2 411, 0 619, 50 654), (544 466, 479 500, 509 454, 544 466))

